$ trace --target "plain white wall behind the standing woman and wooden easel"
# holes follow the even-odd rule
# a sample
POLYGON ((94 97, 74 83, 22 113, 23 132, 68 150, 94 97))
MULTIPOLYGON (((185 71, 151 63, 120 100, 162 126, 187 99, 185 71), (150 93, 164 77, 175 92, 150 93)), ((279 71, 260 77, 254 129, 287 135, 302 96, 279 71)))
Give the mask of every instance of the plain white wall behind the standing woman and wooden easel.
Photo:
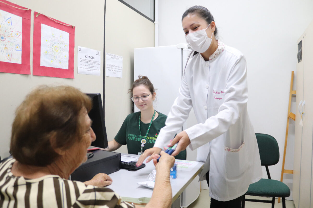
MULTIPOLYGON (((273 179, 280 180, 290 76, 297 63, 296 41, 313 19, 313 1, 159 0, 159 46, 186 42, 181 17, 193 5, 207 7, 220 40, 246 56, 249 115, 256 133, 270 134, 279 143, 280 162, 269 170, 273 179)), ((291 110, 296 113, 295 98, 291 110)), ((289 128, 285 169, 293 169, 294 121, 289 128)), ((292 175, 284 174, 283 181, 292 190, 292 175)))

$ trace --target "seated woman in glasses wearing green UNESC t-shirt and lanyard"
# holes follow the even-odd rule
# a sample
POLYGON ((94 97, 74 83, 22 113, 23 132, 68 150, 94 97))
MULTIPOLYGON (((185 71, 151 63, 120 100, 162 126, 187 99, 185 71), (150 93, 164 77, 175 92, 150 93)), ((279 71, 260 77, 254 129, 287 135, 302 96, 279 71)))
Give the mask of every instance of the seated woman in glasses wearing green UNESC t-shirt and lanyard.
MULTIPOLYGON (((165 126, 167 116, 153 108, 156 93, 146 76, 139 76, 129 92, 140 111, 126 117, 115 138, 108 143, 108 150, 115 151, 127 144, 128 153, 142 154, 153 147, 160 129, 165 126)), ((186 152, 177 156, 177 159, 186 159, 186 152)))

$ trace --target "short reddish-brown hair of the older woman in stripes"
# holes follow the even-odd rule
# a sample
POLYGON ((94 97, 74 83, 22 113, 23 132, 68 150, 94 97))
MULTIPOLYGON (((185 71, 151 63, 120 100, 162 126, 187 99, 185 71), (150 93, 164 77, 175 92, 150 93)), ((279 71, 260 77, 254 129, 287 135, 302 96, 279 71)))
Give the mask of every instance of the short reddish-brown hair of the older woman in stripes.
POLYGON ((81 111, 91 99, 71 86, 39 86, 17 108, 11 152, 22 164, 46 166, 59 157, 54 148, 68 149, 82 137, 81 111), (51 138, 54 138, 51 144, 51 138))

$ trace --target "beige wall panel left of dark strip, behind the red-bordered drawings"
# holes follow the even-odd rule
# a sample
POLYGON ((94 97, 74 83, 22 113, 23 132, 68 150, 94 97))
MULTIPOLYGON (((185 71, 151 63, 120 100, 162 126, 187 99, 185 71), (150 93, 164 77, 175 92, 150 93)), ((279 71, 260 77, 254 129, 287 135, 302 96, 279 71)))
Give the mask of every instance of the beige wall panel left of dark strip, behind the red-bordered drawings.
MULTIPOLYGON (((25 95, 35 86, 41 84, 66 84, 80 88, 84 92, 103 94, 103 71, 100 76, 77 74, 77 46, 83 46, 101 51, 103 55, 104 44, 104 6, 105 2, 96 0, 86 2, 84 0, 10 0, 20 6, 32 10, 31 16, 31 72, 33 53, 33 13, 41 12, 49 17, 74 25, 75 29, 75 55, 74 77, 75 79, 63 79, 52 77, 40 77, 33 75, 19 75, 0 73, 0 156, 9 154, 11 137, 11 125, 14 119, 16 107, 24 99, 25 95)), ((0 6, 1 9, 1 6, 0 6)), ((103 69, 103 56, 101 58, 103 69)))

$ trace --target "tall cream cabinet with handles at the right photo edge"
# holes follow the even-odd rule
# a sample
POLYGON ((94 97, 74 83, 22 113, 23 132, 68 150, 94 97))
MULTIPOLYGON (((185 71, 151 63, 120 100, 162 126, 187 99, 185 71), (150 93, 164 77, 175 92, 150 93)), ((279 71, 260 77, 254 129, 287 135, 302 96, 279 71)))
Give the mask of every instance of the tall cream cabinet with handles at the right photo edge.
MULTIPOLYGON (((299 38, 302 41, 302 60, 297 64, 295 120, 295 156, 293 199, 296 208, 313 208, 313 22, 299 38), (303 126, 301 126, 301 114, 303 126)), ((298 46, 297 46, 298 47, 298 46)))

